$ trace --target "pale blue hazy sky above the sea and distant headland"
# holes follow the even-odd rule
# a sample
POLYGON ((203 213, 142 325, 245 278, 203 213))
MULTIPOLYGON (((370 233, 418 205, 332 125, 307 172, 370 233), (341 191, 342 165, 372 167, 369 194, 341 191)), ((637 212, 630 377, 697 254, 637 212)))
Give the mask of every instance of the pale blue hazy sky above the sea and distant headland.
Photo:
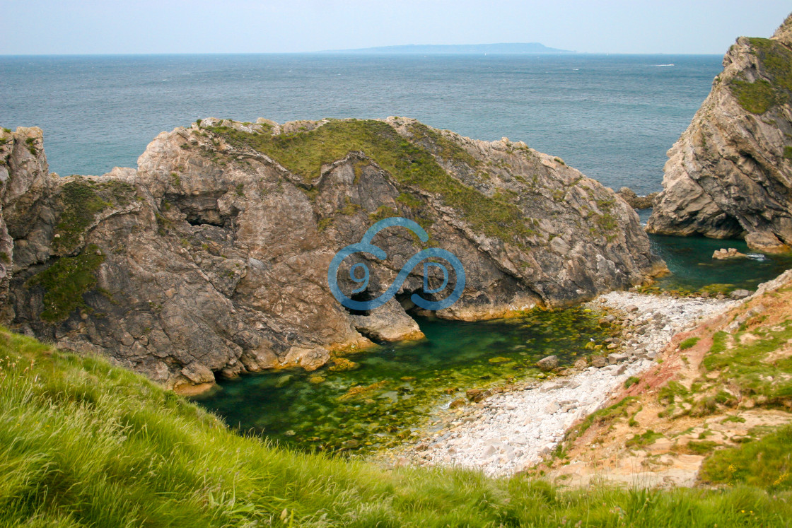
POLYGON ((539 42, 713 53, 771 36, 789 0, 0 0, 0 55, 284 53, 539 42))

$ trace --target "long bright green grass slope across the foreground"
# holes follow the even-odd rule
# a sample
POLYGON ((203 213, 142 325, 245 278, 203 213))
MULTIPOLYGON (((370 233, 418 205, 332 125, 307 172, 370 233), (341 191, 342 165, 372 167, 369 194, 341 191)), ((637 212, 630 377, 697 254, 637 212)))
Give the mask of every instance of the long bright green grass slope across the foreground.
POLYGON ((559 491, 298 454, 128 370, 0 329, 0 526, 788 526, 790 499, 559 491))

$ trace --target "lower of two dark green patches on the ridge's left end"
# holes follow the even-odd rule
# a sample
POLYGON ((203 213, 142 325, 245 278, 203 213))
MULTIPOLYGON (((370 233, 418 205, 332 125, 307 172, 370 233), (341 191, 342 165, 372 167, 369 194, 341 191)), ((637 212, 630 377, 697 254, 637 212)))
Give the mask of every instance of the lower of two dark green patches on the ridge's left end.
POLYGON ((62 256, 49 268, 28 279, 27 287, 44 289, 44 321, 63 321, 69 314, 86 308, 82 294, 96 287, 96 271, 105 261, 97 245, 90 244, 78 256, 62 256))

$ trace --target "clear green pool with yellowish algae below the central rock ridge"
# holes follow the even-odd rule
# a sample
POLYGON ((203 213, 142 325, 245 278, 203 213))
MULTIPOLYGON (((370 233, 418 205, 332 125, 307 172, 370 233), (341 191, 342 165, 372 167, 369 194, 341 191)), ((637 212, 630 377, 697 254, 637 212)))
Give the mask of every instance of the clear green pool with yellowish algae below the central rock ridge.
POLYGON ((573 308, 481 322, 421 317, 425 340, 346 356, 360 363, 355 370, 248 375, 195 400, 230 426, 287 446, 376 450, 401 443, 466 389, 533 377, 534 363, 550 354, 573 363, 592 339, 611 335, 598 324, 601 315, 573 308), (324 380, 316 383, 317 376, 324 380))

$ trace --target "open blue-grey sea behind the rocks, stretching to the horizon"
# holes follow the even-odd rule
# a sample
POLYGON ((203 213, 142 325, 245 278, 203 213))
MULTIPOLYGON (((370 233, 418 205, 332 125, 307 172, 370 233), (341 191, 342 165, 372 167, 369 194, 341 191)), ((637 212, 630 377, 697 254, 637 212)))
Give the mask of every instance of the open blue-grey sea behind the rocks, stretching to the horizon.
POLYGON ((720 70, 719 55, 3 56, 0 126, 42 127, 68 175, 135 167, 196 118, 410 116, 643 194, 720 70))

